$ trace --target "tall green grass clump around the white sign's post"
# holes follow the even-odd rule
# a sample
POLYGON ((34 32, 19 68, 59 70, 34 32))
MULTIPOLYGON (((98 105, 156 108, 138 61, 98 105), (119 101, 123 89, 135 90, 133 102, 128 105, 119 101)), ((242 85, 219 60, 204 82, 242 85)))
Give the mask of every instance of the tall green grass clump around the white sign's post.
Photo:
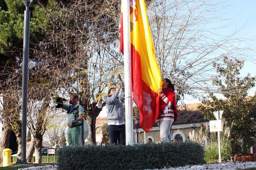
MULTIPOLYGON (((225 141, 221 143, 221 159, 222 162, 226 162, 231 156, 230 142, 225 141)), ((213 141, 204 148, 204 162, 217 163, 219 162, 219 147, 218 141, 213 141)))

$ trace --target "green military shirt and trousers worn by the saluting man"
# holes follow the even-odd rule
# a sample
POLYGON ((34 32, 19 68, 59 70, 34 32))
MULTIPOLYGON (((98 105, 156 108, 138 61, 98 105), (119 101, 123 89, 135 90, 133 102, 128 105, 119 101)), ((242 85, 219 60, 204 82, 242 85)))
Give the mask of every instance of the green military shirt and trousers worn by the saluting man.
MULTIPOLYGON (((80 104, 76 104, 74 107, 72 105, 66 105, 65 109, 68 114, 68 124, 73 120, 77 119, 79 115, 84 114, 84 109, 80 104)), ((69 146, 80 146, 81 140, 81 126, 73 126, 68 128, 68 143, 69 146)))

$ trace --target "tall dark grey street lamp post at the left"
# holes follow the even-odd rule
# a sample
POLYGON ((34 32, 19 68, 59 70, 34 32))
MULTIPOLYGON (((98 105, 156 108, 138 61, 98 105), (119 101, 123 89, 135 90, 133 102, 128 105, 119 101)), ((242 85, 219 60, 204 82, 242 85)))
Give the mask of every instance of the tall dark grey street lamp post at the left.
POLYGON ((29 6, 33 0, 23 0, 26 6, 24 11, 24 33, 23 33, 23 73, 22 73, 22 163, 26 163, 26 139, 27 139, 27 106, 28 106, 28 53, 29 53, 29 31, 30 11, 29 6))

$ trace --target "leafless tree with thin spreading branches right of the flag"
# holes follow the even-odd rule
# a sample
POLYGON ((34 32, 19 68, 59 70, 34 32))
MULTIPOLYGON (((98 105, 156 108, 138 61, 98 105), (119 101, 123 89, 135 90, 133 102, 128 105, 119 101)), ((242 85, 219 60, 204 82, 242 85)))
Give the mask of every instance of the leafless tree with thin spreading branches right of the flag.
MULTIPOLYGON (((216 74, 213 63, 223 63, 224 56, 247 57, 241 42, 250 39, 234 38, 241 29, 222 35, 229 21, 223 18, 225 4, 204 0, 153 0, 148 4, 148 18, 155 54, 161 75, 169 78, 176 88, 176 100, 185 94, 195 98, 205 91, 216 91, 211 75, 216 74)), ((254 59, 255 60, 255 59, 254 59)))

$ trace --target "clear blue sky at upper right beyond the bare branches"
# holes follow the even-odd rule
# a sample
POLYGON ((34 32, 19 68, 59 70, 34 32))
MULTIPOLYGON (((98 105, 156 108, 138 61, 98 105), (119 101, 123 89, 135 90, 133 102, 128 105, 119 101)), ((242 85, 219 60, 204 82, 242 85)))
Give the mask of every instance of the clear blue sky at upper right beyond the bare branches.
MULTIPOLYGON (((223 1, 213 1, 213 2, 223 2, 223 1)), ((222 35, 229 35, 231 32, 242 28, 237 34, 236 38, 249 38, 256 39, 256 0, 230 0, 224 3, 228 5, 225 10, 223 10, 222 18, 231 18, 229 21, 219 23, 229 24, 225 29, 221 30, 222 35)), ((213 27, 216 27, 216 23, 213 27)), ((240 44, 239 47, 250 46, 256 50, 256 40, 251 41, 250 43, 240 44)), ((256 52, 250 52, 252 58, 256 61, 256 52)), ((245 61, 244 67, 241 70, 241 77, 250 73, 252 77, 256 76, 256 63, 245 61)), ((255 94, 256 87, 249 91, 249 95, 255 94)), ((216 95, 222 98, 221 95, 216 95)), ((193 99, 190 96, 187 96, 184 100, 185 103, 195 103, 199 102, 197 99, 193 99)))

